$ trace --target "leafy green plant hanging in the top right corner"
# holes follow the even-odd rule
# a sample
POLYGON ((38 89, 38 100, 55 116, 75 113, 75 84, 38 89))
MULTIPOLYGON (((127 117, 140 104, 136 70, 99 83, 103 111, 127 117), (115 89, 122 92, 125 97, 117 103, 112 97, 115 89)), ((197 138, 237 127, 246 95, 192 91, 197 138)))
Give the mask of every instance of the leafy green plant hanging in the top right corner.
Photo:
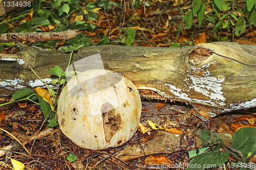
MULTIPOLYGON (((182 22, 185 23, 185 27, 190 29, 193 25, 193 17, 196 15, 198 18, 198 27, 206 20, 215 25, 211 32, 216 33, 217 30, 227 29, 228 31, 234 29, 234 34, 240 36, 245 32, 246 22, 244 18, 248 18, 248 23, 256 25, 256 1, 244 0, 246 6, 239 7, 234 0, 212 0, 210 2, 203 0, 194 0, 192 8, 186 13, 182 22), (205 15, 206 5, 211 5, 212 11, 205 15), (241 14, 238 16, 238 14, 241 14)), ((179 32, 182 28, 182 22, 180 22, 179 32)))

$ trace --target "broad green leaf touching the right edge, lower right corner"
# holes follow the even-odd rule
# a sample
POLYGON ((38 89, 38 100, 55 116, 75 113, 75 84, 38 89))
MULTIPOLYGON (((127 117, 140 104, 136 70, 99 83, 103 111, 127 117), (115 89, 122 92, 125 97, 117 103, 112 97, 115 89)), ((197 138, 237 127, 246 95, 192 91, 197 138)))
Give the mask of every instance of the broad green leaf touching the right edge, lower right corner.
POLYGON ((256 151, 256 128, 241 128, 232 136, 232 148, 243 154, 243 162, 246 162, 249 153, 256 151))

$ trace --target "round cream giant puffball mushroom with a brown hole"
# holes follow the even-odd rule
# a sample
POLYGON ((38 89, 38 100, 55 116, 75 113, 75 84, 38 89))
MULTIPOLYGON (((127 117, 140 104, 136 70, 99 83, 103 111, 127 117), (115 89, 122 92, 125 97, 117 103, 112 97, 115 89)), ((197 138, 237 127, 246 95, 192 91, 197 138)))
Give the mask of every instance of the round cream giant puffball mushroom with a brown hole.
POLYGON ((61 131, 79 147, 118 147, 130 140, 139 126, 139 92, 117 72, 87 70, 72 77, 62 89, 57 115, 61 131))

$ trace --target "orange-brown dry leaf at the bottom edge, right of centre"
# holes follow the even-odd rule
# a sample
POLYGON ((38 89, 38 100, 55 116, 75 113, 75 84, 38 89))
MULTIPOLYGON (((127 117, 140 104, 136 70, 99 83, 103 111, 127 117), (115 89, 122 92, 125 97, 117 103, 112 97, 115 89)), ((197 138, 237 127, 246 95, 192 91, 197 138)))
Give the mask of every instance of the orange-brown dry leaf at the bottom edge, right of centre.
POLYGON ((158 157, 151 155, 145 159, 144 163, 145 165, 152 165, 152 166, 155 165, 159 167, 162 167, 163 165, 168 165, 169 168, 172 167, 172 164, 174 164, 174 162, 169 160, 165 155, 158 156, 158 157))

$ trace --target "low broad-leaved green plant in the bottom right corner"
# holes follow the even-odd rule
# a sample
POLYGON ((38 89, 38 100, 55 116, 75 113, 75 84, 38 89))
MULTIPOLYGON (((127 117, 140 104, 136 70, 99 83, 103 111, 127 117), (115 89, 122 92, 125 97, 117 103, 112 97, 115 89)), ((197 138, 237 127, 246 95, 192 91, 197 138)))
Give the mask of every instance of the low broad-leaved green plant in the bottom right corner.
MULTIPOLYGON (((248 159, 256 154, 256 128, 241 128, 232 136, 232 146, 231 148, 227 147, 222 141, 221 137, 217 133, 211 133, 206 130, 201 130, 198 133, 200 138, 202 138, 201 142, 211 148, 213 150, 209 150, 208 152, 204 152, 196 154, 194 151, 190 151, 189 157, 195 156, 190 160, 187 170, 191 169, 205 169, 205 168, 218 168, 224 166, 224 163, 229 161, 230 167, 232 168, 240 168, 244 167, 242 164, 245 163, 248 165, 248 159), (225 145, 225 147, 223 147, 225 145), (228 150, 227 150, 227 149, 228 150), (231 162, 229 160, 229 156, 234 156, 238 160, 242 159, 242 162, 231 162), (196 166, 196 167, 195 167, 196 166)), ((203 150, 208 150, 208 147, 203 150)))

